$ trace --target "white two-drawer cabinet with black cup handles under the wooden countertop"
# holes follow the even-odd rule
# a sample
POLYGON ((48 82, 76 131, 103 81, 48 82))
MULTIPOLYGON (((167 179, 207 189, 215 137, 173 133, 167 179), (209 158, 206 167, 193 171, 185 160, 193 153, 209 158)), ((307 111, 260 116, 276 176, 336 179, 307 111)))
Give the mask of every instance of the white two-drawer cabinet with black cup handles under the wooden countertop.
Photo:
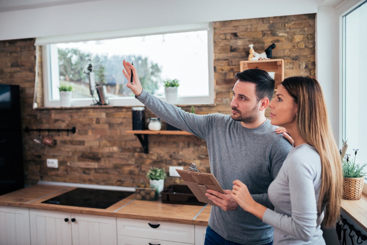
POLYGON ((117 241, 118 245, 195 244, 195 229, 190 224, 117 218, 117 241))

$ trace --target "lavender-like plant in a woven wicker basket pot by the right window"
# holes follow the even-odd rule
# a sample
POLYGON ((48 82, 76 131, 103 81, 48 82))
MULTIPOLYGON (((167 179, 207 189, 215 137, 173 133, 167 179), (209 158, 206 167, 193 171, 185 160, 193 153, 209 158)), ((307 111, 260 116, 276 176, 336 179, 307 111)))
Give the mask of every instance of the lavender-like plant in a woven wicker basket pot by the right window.
POLYGON ((365 164, 356 163, 356 156, 359 149, 353 149, 354 158, 350 158, 350 154, 343 154, 346 152, 346 147, 344 145, 343 149, 340 150, 342 156, 342 168, 343 168, 343 199, 346 200, 359 200, 362 195, 364 176, 364 168, 367 166, 365 164))

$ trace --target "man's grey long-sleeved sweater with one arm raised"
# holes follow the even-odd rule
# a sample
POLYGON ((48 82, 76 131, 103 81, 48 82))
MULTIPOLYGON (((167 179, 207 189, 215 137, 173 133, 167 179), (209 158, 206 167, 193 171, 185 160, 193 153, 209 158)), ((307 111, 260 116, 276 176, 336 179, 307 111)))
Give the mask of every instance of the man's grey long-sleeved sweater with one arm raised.
MULTIPOLYGON (((233 180, 239 179, 247 185, 255 201, 273 209, 268 187, 291 144, 274 132, 276 126, 269 120, 249 129, 230 115, 188 113, 144 89, 138 100, 163 121, 206 141, 211 173, 224 190, 232 190, 233 180)), ((273 228, 240 206, 233 211, 212 206, 209 226, 225 239, 240 244, 260 245, 273 240, 273 228)))

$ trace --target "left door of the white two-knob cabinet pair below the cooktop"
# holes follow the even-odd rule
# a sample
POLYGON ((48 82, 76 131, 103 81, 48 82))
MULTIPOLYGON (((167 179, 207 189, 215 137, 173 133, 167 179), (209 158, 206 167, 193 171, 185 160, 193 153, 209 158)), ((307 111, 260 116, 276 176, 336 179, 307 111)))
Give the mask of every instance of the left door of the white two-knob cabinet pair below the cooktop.
POLYGON ((72 244, 70 213, 30 209, 29 219, 32 245, 72 244))

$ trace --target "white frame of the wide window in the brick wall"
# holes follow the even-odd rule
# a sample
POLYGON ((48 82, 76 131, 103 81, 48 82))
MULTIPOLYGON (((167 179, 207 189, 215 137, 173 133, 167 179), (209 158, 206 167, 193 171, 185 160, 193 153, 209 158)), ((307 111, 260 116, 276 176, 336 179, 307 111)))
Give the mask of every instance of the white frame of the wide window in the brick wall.
MULTIPOLYGON (((59 100, 52 100, 51 93, 58 91, 52 91, 50 86, 51 78, 59 79, 59 67, 51 67, 51 58, 57 55, 56 43, 68 43, 76 41, 89 41, 89 40, 102 40, 121 37, 133 37, 144 36, 152 34, 164 34, 164 33, 176 33, 176 32, 190 32, 196 30, 207 30, 208 32, 208 95, 207 96, 179 96, 177 105, 212 105, 214 104, 214 45, 213 45, 213 32, 211 23, 197 23, 191 25, 176 25, 176 26, 164 26, 157 28, 143 28, 143 29, 130 29, 120 30, 112 32, 95 32, 95 33, 83 33, 63 36, 52 37, 39 37, 36 38, 35 45, 42 46, 42 60, 43 60, 43 88, 44 88, 44 107, 60 107, 59 100)), ((121 64, 121 69, 123 69, 121 64)), ((195 68, 193 68, 195 69, 195 68)), ((166 98, 160 97, 163 100, 166 98)), ((72 99, 72 107, 90 106, 94 102, 92 98, 87 99, 72 99)), ((126 98, 109 98, 109 105, 111 106, 142 106, 134 97, 126 98)))

